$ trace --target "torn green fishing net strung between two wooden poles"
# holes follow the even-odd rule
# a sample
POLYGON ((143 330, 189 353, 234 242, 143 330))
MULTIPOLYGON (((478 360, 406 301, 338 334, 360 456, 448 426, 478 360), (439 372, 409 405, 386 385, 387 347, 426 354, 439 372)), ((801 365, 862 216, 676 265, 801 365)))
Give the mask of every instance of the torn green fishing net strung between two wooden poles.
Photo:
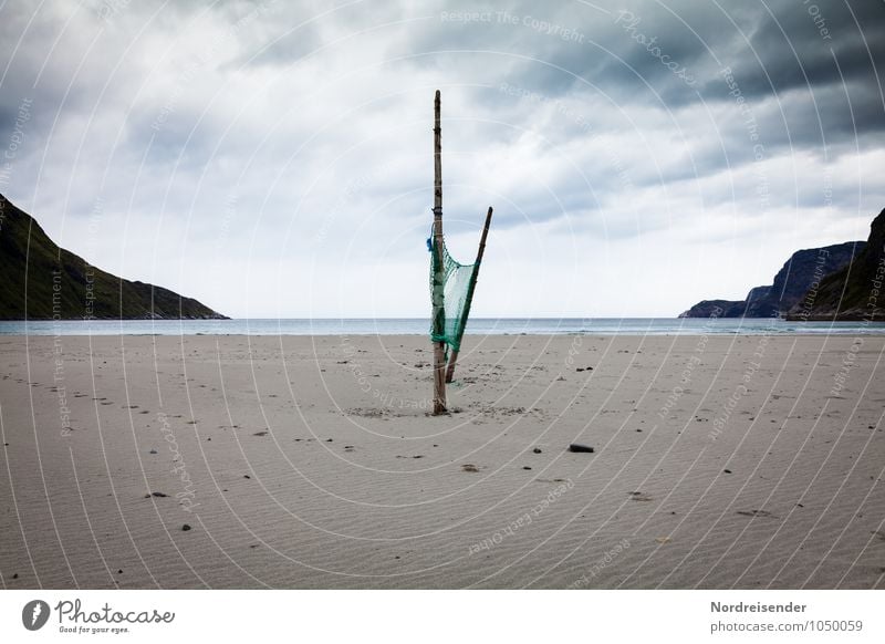
POLYGON ((434 297, 436 290, 437 273, 437 252, 436 242, 433 238, 428 240, 430 250, 430 300, 434 304, 433 320, 430 326, 430 339, 434 342, 445 342, 452 350, 458 351, 461 346, 464 328, 467 324, 467 316, 470 313, 470 300, 473 297, 473 279, 477 269, 476 263, 458 263, 449 255, 446 242, 442 242, 442 297, 444 307, 437 309, 434 297))

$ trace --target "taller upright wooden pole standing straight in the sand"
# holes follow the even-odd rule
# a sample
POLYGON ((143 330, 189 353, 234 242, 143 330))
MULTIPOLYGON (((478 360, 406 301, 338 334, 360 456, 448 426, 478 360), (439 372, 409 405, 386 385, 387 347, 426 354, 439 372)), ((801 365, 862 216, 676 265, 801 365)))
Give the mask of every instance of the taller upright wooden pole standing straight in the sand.
MULTIPOLYGON (((439 90, 434 100, 434 334, 446 331, 442 266, 442 129, 439 126, 439 90)), ((446 413, 446 343, 434 343, 434 416, 446 413)))

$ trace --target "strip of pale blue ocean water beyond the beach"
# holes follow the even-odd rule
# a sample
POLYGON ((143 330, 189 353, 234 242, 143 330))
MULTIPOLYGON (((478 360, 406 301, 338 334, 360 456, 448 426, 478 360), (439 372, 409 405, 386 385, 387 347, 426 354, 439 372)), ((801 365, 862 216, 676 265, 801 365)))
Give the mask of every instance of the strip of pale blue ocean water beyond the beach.
MULTIPOLYGON (((426 318, 282 320, 63 320, 0 321, 0 335, 426 335, 426 318)), ((595 334, 868 334, 885 322, 788 322, 775 319, 477 318, 468 335, 595 334)))

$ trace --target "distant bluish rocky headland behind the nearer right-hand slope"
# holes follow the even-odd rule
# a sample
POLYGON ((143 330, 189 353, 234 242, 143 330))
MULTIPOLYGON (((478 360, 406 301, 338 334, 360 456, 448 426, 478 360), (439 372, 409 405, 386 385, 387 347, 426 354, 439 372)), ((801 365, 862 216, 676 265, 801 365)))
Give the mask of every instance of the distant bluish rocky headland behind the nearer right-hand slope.
POLYGON ((846 241, 798 250, 787 260, 768 287, 750 289, 745 300, 704 300, 681 313, 679 318, 771 318, 787 314, 824 277, 846 267, 866 245, 846 241))

